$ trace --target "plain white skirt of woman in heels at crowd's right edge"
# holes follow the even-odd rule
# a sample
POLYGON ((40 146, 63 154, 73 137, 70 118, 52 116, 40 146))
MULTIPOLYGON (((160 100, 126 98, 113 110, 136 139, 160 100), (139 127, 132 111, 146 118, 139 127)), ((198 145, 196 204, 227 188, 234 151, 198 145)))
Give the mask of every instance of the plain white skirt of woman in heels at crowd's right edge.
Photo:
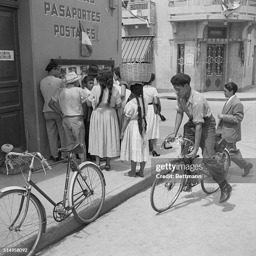
POLYGON ((154 112, 153 105, 148 105, 147 120, 147 136, 148 139, 160 138, 159 137, 159 118, 154 112))

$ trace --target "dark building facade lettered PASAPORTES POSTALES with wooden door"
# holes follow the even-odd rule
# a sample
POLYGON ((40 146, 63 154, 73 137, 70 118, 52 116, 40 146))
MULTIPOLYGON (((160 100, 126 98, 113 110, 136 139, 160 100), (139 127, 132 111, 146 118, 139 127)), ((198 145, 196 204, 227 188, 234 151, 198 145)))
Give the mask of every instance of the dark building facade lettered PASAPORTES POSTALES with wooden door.
POLYGON ((120 0, 0 0, 0 145, 49 156, 40 91, 45 68, 53 59, 62 75, 120 64, 121 8, 120 0), (82 56, 83 29, 90 56, 82 56))

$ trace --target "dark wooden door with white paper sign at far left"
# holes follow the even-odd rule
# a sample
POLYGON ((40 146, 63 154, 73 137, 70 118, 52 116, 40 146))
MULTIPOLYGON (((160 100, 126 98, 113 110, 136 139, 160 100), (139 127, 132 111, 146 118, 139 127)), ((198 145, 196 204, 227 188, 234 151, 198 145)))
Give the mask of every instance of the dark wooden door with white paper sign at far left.
POLYGON ((1 1, 0 35, 0 146, 26 148, 17 10, 1 6, 1 1))

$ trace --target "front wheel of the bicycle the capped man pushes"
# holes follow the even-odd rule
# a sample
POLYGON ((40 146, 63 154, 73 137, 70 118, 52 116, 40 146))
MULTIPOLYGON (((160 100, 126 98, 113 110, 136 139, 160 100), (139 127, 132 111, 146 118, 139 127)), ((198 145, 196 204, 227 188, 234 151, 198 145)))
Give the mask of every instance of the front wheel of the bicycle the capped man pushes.
MULTIPOLYGON (((180 160, 172 160, 170 161, 171 166, 172 165, 179 165, 182 164, 182 161, 180 160)), ((150 192, 150 203, 152 208, 156 212, 164 212, 168 210, 174 202, 179 197, 180 192, 182 192, 182 189, 184 187, 184 184, 186 182, 185 178, 175 178, 176 174, 186 174, 186 171, 184 169, 174 170, 172 172, 171 170, 163 170, 159 174, 159 177, 156 177, 150 192), (174 178, 163 178, 162 175, 166 174, 173 174, 174 178), (177 189, 176 189, 177 187, 177 189), (175 194, 175 195, 174 195, 175 194), (169 201, 169 197, 170 200, 169 201), (159 203, 158 203, 159 201, 159 203), (161 203, 162 202, 162 203, 161 203)))

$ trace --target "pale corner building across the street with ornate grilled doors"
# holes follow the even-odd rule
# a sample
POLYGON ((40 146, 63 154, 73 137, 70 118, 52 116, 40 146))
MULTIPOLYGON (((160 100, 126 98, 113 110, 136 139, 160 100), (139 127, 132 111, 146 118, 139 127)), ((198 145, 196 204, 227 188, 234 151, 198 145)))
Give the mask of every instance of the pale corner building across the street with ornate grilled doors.
POLYGON ((223 90, 229 81, 239 92, 256 85, 255 0, 131 0, 122 21, 123 38, 153 37, 159 92, 172 90, 178 72, 189 74, 200 92, 223 90))

